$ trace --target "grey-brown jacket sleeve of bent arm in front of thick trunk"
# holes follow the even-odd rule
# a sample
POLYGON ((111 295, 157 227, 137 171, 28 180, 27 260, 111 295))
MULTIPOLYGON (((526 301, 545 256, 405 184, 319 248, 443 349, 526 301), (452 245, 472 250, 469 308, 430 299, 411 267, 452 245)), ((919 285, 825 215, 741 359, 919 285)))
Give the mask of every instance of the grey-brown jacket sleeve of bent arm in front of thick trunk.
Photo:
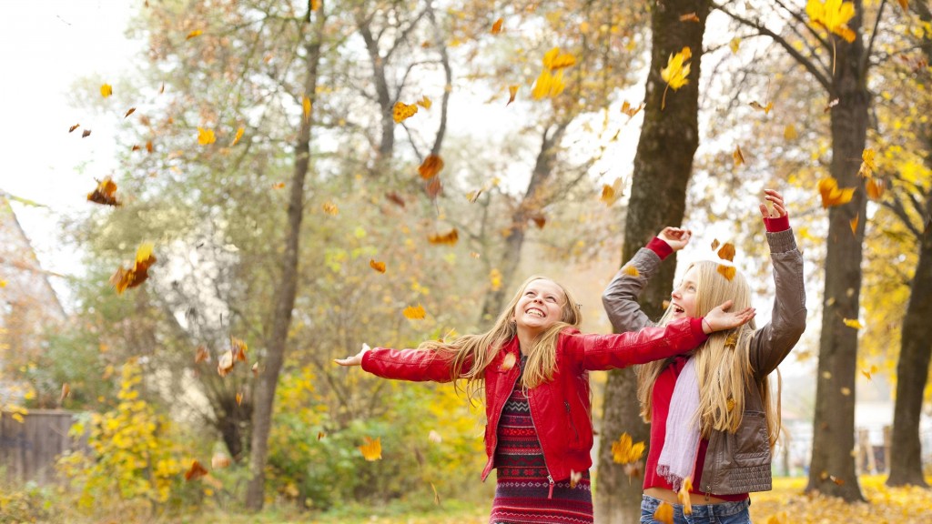
POLYGON ((647 314, 640 309, 637 296, 660 268, 660 263, 660 256, 646 247, 640 248, 634 257, 618 270, 609 287, 602 293, 602 306, 609 313, 609 320, 615 331, 637 331, 653 325, 647 314), (637 276, 626 272, 625 268, 628 267, 637 269, 637 276))

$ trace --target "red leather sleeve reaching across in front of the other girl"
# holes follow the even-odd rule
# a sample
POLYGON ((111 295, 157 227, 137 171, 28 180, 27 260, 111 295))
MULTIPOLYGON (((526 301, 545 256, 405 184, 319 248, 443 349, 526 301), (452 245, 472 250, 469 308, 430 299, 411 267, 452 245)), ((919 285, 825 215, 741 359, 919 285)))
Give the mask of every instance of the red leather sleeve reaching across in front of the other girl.
POLYGON ((706 341, 702 319, 680 319, 617 335, 572 335, 566 344, 583 369, 596 371, 646 364, 688 352, 706 341))

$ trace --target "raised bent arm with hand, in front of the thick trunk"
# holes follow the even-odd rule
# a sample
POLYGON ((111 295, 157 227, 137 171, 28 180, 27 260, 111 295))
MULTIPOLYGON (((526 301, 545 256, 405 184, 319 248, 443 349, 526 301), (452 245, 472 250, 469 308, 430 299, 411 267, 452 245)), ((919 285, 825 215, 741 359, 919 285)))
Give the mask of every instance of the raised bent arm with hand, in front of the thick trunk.
POLYGON ((660 268, 660 263, 685 247, 691 238, 689 229, 664 228, 618 271, 602 294, 602 305, 616 331, 637 331, 653 324, 641 310, 637 297, 660 268))

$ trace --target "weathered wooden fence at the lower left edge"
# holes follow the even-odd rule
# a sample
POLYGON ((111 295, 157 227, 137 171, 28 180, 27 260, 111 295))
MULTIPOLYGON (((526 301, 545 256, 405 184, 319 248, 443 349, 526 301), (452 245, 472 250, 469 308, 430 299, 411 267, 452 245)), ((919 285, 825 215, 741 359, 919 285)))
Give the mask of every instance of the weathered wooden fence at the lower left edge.
POLYGON ((59 409, 33 409, 20 422, 4 412, 0 417, 0 471, 6 470, 7 481, 54 482, 58 456, 80 446, 68 436, 73 416, 59 409))

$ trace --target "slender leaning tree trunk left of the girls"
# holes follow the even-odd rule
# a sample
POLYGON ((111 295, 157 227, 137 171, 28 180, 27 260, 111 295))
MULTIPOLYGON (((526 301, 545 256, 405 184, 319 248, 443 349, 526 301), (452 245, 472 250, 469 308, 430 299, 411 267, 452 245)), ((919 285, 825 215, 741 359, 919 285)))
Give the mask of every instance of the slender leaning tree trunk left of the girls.
MULTIPOLYGON (((308 2, 306 22, 310 24, 314 16, 308 2)), ((321 59, 321 38, 323 34, 323 6, 318 7, 312 41, 306 45, 306 77, 304 94, 311 102, 316 98, 317 68, 321 59)), ((271 430, 272 413, 275 402, 275 389, 278 386, 281 364, 284 362, 285 346, 288 341, 288 329, 291 325, 292 310, 297 294, 298 244, 301 236, 301 219, 304 214, 304 185, 308 176, 310 162, 310 130, 313 125, 313 112, 301 119, 301 130, 295 145, 295 170, 292 173, 291 194, 288 200, 288 232, 285 237, 285 250, 281 256, 281 281, 276 292, 275 316, 272 321, 271 334, 267 340, 265 361, 261 364, 258 382, 255 385, 253 409, 253 439, 249 462, 250 479, 246 489, 246 507, 253 511, 262 509, 265 503, 266 462, 268 456, 268 434, 271 430)))

